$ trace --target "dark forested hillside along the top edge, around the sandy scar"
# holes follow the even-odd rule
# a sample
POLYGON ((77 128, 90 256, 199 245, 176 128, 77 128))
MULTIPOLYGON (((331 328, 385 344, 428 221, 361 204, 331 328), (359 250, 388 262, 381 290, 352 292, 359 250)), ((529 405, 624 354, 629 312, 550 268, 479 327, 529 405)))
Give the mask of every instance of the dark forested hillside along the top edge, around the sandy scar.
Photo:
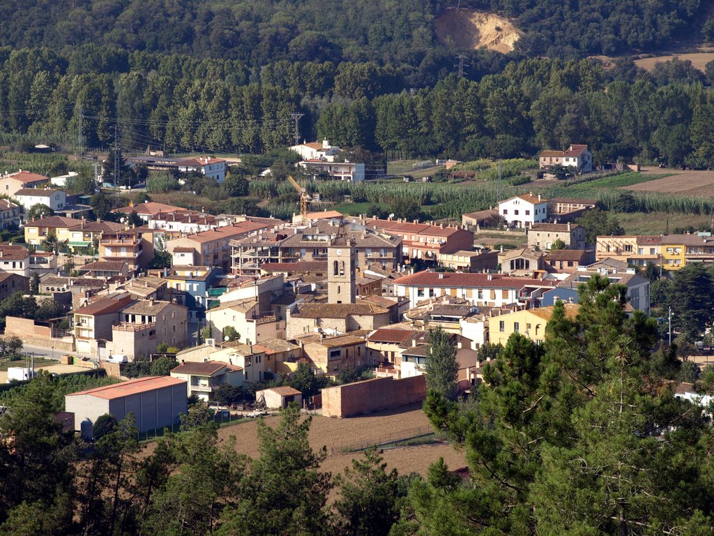
POLYGON ((253 67, 286 59, 451 69, 458 52, 439 44, 434 21, 457 6, 513 18, 525 32, 516 54, 560 57, 655 49, 689 37, 693 24, 698 31, 708 10, 703 0, 6 0, 0 44, 106 44, 253 67))

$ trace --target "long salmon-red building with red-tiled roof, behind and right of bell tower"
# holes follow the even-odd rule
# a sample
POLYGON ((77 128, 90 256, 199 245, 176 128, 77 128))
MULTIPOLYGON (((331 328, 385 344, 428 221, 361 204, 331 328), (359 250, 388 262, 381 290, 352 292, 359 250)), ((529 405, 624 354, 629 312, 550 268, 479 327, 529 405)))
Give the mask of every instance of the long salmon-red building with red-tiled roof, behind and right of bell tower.
POLYGON ((473 249, 473 232, 458 227, 367 217, 353 221, 401 237, 402 254, 406 259, 437 262, 439 254, 473 249))

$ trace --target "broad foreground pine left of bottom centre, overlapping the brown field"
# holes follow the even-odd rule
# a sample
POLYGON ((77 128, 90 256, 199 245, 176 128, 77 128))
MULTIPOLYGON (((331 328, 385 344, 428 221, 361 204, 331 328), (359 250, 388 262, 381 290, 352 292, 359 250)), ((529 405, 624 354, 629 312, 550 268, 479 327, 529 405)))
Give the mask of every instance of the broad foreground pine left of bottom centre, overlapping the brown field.
POLYGON ((326 535, 329 473, 320 471, 326 449, 308 442, 312 417, 291 403, 275 429, 258 421, 261 456, 243 480, 242 500, 226 508, 216 536, 326 535))

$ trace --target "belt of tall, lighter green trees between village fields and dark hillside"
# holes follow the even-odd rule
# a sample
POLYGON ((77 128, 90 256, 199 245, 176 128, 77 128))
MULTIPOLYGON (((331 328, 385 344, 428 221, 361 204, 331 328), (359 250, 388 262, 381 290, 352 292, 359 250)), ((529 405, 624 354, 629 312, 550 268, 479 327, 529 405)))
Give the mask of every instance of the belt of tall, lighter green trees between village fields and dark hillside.
POLYGON ((108 147, 119 124, 126 150, 261 153, 291 144, 290 114, 302 111, 302 137, 390 156, 533 157, 586 143, 598 162, 712 165, 714 100, 688 61, 652 74, 631 61, 606 71, 597 61, 560 59, 494 70, 407 89, 397 71, 376 63, 283 61, 256 74, 230 60, 4 48, 0 131, 6 142, 108 147))

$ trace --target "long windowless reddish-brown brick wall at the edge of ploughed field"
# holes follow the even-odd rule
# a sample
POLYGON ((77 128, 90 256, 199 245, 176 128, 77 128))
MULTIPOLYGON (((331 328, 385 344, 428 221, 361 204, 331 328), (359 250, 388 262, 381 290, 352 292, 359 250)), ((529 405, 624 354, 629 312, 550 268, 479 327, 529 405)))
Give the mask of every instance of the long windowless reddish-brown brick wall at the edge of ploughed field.
POLYGON ((389 410, 426 398, 426 376, 402 379, 367 379, 322 389, 322 414, 326 417, 352 417, 389 410))

